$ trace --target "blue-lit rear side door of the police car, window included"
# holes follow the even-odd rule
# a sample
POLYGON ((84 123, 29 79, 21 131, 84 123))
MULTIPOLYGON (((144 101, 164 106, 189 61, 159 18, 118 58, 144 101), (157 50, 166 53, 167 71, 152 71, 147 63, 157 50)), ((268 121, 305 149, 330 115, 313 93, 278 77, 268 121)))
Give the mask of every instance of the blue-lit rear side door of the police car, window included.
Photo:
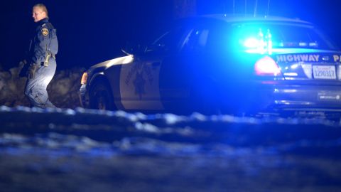
POLYGON ((209 30, 202 26, 183 27, 176 51, 163 58, 160 75, 160 92, 166 109, 182 111, 188 107, 192 85, 200 87, 202 50, 205 48, 209 30))

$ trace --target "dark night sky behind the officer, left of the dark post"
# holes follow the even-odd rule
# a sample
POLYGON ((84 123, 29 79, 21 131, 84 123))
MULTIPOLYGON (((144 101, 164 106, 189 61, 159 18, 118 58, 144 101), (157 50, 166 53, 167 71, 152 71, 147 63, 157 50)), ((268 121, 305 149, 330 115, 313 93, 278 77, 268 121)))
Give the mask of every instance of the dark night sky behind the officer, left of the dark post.
MULTIPOLYGON (((57 28, 60 50, 58 68, 89 66, 121 53, 126 41, 157 33, 172 17, 171 4, 162 1, 11 1, 0 7, 0 63, 3 68, 23 60, 33 20, 31 7, 42 2, 48 7, 50 21, 57 28), (153 29, 151 29, 153 27, 153 29)), ((147 39, 145 41, 148 41, 147 39)))

